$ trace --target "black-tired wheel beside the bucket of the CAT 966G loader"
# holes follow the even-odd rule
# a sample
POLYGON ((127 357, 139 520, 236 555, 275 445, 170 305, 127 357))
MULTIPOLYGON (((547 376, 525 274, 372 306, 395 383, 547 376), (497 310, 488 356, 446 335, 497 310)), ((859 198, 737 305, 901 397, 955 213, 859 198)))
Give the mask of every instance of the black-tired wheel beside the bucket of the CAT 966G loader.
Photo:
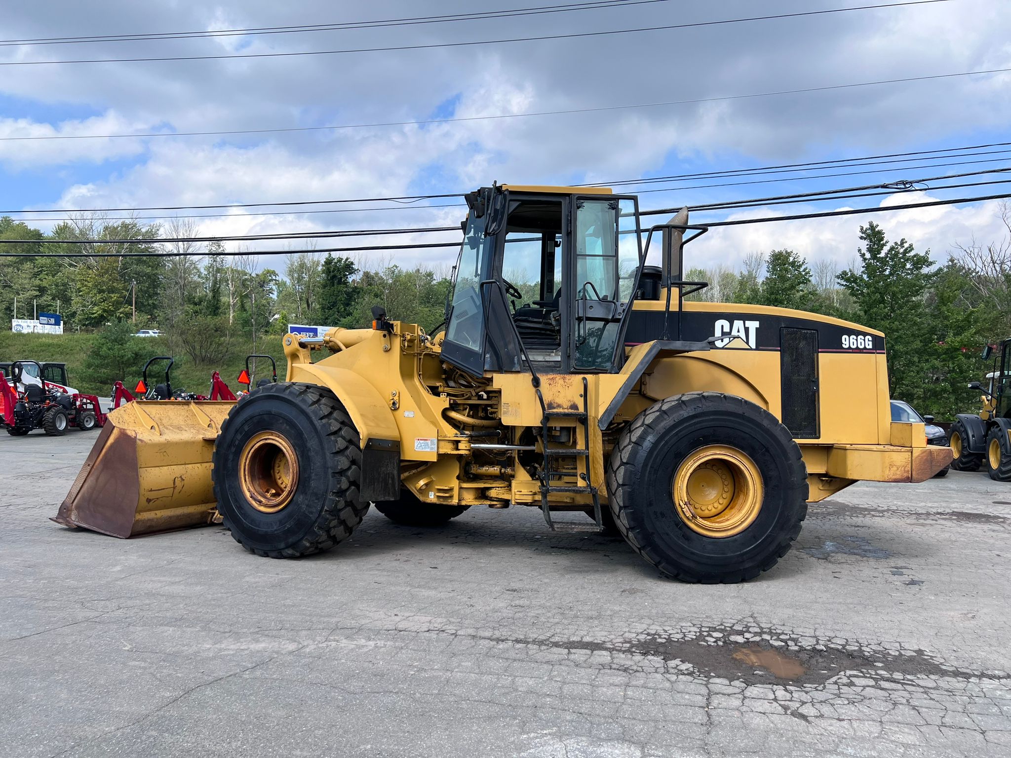
POLYGON ((218 512, 251 553, 298 558, 330 550, 369 508, 358 490, 361 461, 358 432, 329 389, 262 387, 221 424, 211 470, 218 512))

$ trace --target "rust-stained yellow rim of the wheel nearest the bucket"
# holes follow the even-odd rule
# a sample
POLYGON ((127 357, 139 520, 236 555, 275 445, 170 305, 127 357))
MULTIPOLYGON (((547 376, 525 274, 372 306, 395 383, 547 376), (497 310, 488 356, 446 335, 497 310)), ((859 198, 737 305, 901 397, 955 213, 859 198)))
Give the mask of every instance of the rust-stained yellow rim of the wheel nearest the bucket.
POLYGON ((298 458, 291 443, 276 432, 254 435, 239 457, 239 483, 257 510, 276 513, 298 486, 298 458))

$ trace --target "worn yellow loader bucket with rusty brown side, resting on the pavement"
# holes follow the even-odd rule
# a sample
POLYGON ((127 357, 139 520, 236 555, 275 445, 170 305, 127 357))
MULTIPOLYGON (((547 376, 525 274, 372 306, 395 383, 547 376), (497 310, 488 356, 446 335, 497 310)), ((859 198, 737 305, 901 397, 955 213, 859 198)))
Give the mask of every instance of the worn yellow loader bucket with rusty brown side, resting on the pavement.
POLYGON ((53 520, 123 539, 210 524, 211 454, 234 405, 136 400, 111 411, 53 520))

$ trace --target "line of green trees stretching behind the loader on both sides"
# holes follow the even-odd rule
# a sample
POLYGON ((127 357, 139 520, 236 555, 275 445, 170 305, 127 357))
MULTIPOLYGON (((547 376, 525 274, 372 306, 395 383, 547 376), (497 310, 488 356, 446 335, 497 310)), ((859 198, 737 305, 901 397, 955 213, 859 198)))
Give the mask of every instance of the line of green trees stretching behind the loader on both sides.
MULTIPOLYGON (((916 251, 906 240, 890 242, 869 222, 859 226, 856 257, 845 269, 828 261, 809 264, 791 250, 754 253, 735 269, 690 269, 686 279, 710 286, 688 299, 810 310, 880 329, 887 336, 892 396, 949 418, 978 401, 964 385, 989 370, 978 358, 983 346, 1011 334, 1011 208, 1002 208, 1002 218, 1006 239, 956 247, 939 266, 929 251, 916 251)), ((260 268, 253 253, 225 257, 219 242, 160 242, 195 232, 195 224, 183 219, 163 227, 82 216, 43 233, 2 217, 0 239, 28 241, 3 250, 36 257, 0 259, 0 307, 25 317, 32 300, 39 310, 59 304, 65 328, 105 328, 117 343, 136 328, 157 326, 170 352, 201 366, 240 343, 252 342, 255 350, 258 339, 282 334, 288 323, 368 325, 376 304, 390 318, 427 329, 443 319, 451 287, 447 269, 406 268, 394 260, 377 265, 374 259, 366 266, 364 259, 330 254, 292 254, 278 269, 260 268), (75 240, 100 242, 71 244, 75 240), (169 255, 123 255, 141 252, 169 255), (87 257, 62 257, 66 253, 87 257)))

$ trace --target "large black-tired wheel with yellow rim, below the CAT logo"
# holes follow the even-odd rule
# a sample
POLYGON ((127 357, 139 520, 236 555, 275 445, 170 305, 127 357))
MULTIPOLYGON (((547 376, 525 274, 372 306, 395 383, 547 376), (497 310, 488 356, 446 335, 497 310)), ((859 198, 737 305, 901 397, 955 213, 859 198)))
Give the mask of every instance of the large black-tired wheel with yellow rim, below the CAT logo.
POLYGON ((732 583, 770 569, 800 535, 807 469, 771 413, 693 392, 654 403, 622 433, 608 493, 622 536, 663 574, 732 583))

